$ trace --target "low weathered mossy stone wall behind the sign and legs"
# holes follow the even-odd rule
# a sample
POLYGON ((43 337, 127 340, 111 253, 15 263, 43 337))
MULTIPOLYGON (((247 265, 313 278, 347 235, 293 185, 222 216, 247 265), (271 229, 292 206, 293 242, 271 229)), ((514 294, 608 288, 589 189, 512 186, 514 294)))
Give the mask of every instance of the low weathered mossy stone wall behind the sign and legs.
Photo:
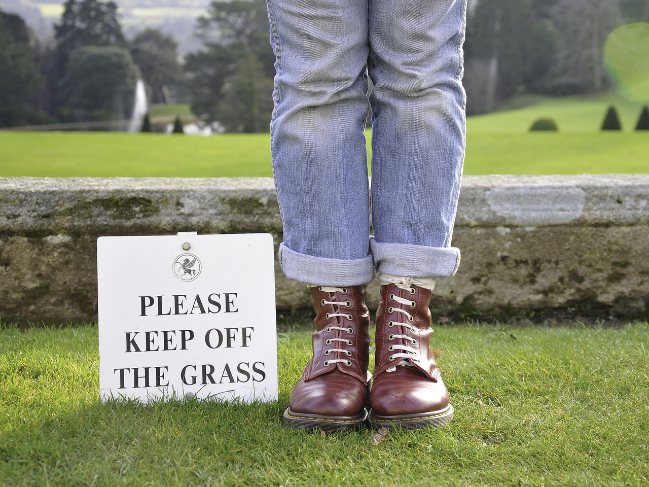
MULTIPOLYGON (((179 231, 269 232, 277 246, 272 179, 0 179, 0 319, 95 320, 97 237, 179 231)), ((649 175, 465 177, 453 243, 462 262, 437 284, 438 316, 649 316, 649 175)), ((310 306, 277 264, 276 300, 310 306)))

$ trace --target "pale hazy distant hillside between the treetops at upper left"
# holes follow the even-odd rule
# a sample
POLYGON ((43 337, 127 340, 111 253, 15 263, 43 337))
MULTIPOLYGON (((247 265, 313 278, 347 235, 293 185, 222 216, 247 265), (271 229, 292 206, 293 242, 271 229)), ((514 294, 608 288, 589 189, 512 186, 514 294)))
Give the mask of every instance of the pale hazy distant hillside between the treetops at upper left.
MULTIPOLYGON (((117 0, 115 3, 120 7, 122 28, 127 38, 147 27, 156 27, 176 38, 182 55, 201 48, 201 43, 193 37, 193 28, 210 0, 117 0)), ((63 12, 63 2, 0 0, 0 8, 19 14, 38 38, 48 40, 53 37, 53 24, 63 12)))

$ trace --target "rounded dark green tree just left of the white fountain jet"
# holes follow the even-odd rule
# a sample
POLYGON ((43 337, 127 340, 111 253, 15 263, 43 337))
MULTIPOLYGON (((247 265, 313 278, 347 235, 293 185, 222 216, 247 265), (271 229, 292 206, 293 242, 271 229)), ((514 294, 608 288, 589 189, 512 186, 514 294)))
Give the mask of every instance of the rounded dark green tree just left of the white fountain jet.
POLYGON ((60 83, 64 103, 77 110, 105 118, 125 112, 132 105, 138 70, 127 49, 115 46, 79 47, 70 55, 66 76, 60 83))

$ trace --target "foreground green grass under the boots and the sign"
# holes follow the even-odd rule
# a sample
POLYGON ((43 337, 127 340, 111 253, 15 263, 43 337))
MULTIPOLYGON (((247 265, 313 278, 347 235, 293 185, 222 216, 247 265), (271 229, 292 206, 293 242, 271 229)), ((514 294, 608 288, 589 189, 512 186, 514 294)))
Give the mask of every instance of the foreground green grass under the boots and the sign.
POLYGON ((281 412, 310 331, 278 335, 267 405, 97 397, 97 329, 0 329, 0 485, 646 485, 649 325, 437 327, 437 431, 307 434, 281 412), (512 338, 514 334, 516 338, 512 338))

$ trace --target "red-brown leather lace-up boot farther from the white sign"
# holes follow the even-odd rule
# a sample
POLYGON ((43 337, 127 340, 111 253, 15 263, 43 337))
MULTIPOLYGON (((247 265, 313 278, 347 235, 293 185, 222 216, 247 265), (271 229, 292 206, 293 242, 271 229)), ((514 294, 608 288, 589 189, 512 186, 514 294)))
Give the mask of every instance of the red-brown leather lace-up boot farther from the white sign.
POLYGON ((453 419, 448 391, 430 349, 431 295, 415 285, 381 286, 369 414, 374 427, 438 428, 453 419))

